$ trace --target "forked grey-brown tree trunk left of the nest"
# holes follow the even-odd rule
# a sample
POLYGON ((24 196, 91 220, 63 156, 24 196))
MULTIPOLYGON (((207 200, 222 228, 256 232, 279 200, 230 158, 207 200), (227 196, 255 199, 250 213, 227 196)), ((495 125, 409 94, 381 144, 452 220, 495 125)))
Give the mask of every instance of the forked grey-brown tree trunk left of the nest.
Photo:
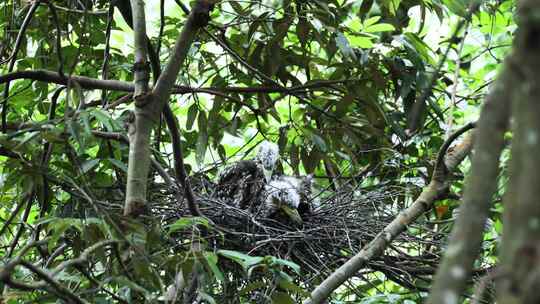
MULTIPOLYGON (((136 54, 147 51, 146 33, 143 32, 144 27, 138 25, 140 22, 144 22, 144 20, 141 20, 144 19, 144 13, 137 12, 141 10, 142 5, 139 3, 141 1, 131 1, 136 54)), ((212 7, 213 5, 209 1, 197 1, 176 40, 173 53, 152 91, 145 92, 144 79, 146 77, 146 83, 148 83, 148 76, 142 75, 143 71, 139 71, 142 78, 135 78, 136 94, 134 94, 134 97, 136 109, 134 122, 129 130, 131 144, 129 146, 128 180, 124 206, 124 215, 126 216, 136 216, 144 213, 147 209, 146 185, 150 166, 150 133, 154 124, 159 120, 163 107, 169 100, 171 90, 186 59, 191 43, 195 39, 198 30, 206 26, 209 21, 209 13, 212 7)), ((141 60, 141 58, 146 58, 146 54, 136 55, 135 58, 141 60)), ((142 65, 142 61, 136 62, 135 75, 137 75, 138 66, 142 65)))

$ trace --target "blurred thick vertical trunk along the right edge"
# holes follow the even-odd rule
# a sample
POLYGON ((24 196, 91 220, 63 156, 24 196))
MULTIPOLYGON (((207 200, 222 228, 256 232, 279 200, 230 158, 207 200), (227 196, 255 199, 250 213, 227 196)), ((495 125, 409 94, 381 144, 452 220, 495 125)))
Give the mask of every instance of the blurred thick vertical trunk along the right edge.
POLYGON ((540 2, 521 1, 510 68, 513 139, 497 303, 540 303, 540 2))

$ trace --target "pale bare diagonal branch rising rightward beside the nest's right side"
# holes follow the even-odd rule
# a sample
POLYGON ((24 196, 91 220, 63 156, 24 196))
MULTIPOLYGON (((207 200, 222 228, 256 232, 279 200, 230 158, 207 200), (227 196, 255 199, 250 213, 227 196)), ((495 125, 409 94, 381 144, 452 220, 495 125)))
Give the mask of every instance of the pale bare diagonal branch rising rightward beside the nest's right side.
MULTIPOLYGON (((443 197, 448 190, 447 179, 452 171, 461 163, 471 151, 472 141, 466 139, 452 151, 445 154, 452 142, 466 131, 474 128, 470 123, 457 130, 443 144, 437 155, 437 162, 431 182, 426 186, 416 201, 388 224, 375 238, 369 242, 360 252, 348 260, 345 264, 334 271, 315 290, 311 292, 310 299, 304 304, 318 304, 327 299, 330 294, 341 284, 354 276, 368 261, 384 252, 400 233, 405 231, 407 225, 416 220, 425 211, 429 210, 434 202, 443 197)), ((472 136, 472 135, 469 135, 472 136)))

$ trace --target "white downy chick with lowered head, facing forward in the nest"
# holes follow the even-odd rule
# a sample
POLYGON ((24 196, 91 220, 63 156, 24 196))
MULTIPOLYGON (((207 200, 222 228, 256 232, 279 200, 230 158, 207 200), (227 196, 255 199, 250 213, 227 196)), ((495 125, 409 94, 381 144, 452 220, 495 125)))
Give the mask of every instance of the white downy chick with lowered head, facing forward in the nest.
MULTIPOLYGON (((298 213, 301 197, 298 184, 287 177, 274 179, 265 187, 266 197, 262 206, 262 215, 267 218, 287 215, 294 223, 302 224, 302 217, 298 213)), ((278 218, 279 219, 279 218, 278 218)))

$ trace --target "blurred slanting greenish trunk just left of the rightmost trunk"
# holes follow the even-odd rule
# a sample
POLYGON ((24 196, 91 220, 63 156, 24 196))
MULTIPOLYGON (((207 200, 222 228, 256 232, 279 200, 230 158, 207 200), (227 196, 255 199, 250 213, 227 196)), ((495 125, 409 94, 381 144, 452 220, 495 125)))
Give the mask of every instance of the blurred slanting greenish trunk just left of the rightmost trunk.
POLYGON ((510 69, 502 73, 487 97, 478 121, 475 154, 471 174, 465 182, 463 203, 427 303, 444 303, 445 299, 454 298, 457 303, 480 252, 510 115, 510 69))

